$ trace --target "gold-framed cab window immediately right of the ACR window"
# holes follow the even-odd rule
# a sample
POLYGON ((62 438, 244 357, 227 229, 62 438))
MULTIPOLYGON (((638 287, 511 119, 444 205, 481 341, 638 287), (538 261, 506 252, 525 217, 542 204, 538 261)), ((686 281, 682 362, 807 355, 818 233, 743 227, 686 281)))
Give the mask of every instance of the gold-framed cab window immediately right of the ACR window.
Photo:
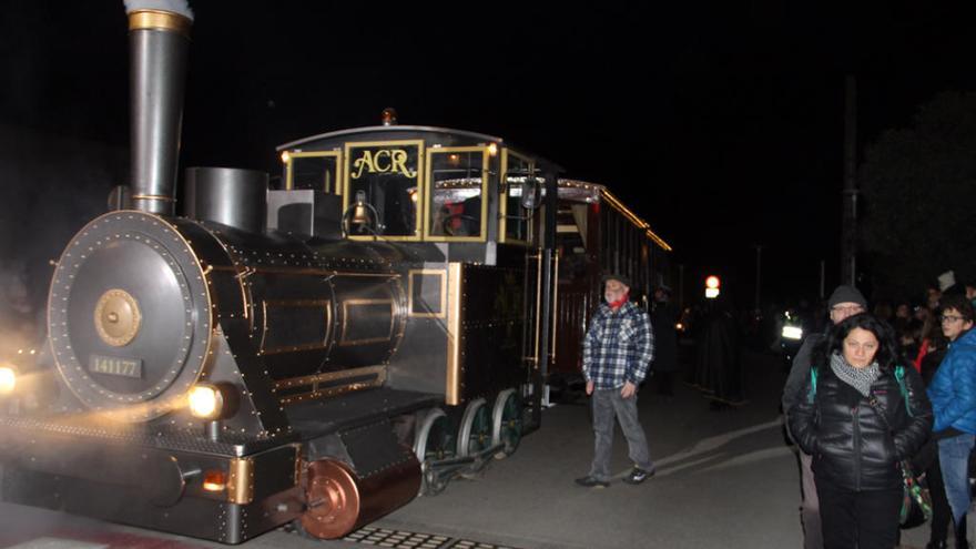
POLYGON ((484 148, 428 151, 427 227, 433 238, 484 240, 487 231, 488 156, 484 148))

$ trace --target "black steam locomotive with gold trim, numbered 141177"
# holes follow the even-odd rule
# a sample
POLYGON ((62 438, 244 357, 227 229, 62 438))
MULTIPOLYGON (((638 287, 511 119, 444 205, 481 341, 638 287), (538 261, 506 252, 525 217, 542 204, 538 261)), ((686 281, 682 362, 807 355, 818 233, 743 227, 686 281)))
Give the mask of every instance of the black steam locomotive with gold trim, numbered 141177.
POLYGON ((282 189, 190 169, 176 216, 191 21, 129 22, 131 194, 57 262, 47 367, 0 368, 6 501, 226 543, 342 537, 539 427, 558 279, 596 295, 616 247, 571 237, 630 227, 616 266, 653 276, 663 241, 604 187, 393 111, 282 145, 282 189))

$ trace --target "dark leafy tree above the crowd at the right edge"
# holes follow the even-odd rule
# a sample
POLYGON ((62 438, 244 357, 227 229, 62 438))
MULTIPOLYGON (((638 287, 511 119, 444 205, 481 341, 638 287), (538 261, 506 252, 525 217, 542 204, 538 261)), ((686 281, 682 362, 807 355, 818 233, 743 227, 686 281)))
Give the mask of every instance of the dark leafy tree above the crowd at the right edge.
POLYGON ((976 276, 976 93, 944 92, 867 149, 861 242, 875 293, 917 297, 949 268, 976 276))

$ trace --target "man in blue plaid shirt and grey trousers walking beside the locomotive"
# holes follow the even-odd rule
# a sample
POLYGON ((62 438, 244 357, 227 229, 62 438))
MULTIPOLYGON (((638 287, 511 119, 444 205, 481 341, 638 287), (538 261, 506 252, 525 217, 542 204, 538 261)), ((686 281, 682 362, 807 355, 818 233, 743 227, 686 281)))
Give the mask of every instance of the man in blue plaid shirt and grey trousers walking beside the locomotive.
POLYGON ((623 478, 631 485, 654 476, 648 440, 637 415, 637 388, 654 356, 654 334, 648 314, 630 303, 630 281, 620 275, 603 277, 603 298, 583 340, 583 376, 587 395, 593 397, 593 464, 590 474, 576 479, 580 486, 610 486, 610 449, 613 419, 620 421, 633 461, 623 478))

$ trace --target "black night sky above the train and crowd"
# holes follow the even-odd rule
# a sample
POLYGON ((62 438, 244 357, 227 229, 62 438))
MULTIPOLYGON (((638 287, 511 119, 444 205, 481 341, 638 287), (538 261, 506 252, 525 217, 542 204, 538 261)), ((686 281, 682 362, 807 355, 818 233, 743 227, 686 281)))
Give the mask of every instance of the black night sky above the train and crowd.
MULTIPOLYGON (((122 2, 2 3, 0 124, 128 146, 122 2)), ((821 260, 838 282, 845 75, 863 155, 937 92, 976 89, 972 14, 682 3, 192 3, 183 164, 276 175, 275 145, 394 106, 608 185, 674 246, 689 287, 721 273, 751 304, 759 244, 763 292, 813 296, 821 260)))

